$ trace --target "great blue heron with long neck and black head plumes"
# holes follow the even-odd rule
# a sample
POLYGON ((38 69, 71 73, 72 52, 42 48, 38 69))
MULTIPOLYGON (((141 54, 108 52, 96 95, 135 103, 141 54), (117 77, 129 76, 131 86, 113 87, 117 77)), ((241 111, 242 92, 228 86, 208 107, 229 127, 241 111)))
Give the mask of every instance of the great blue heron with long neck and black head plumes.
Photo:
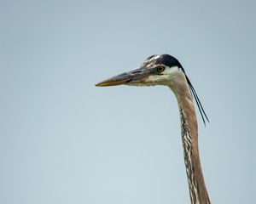
POLYGON ((205 125, 209 119, 183 66, 172 55, 154 54, 144 60, 138 68, 96 83, 97 87, 117 85, 163 85, 171 88, 176 96, 180 114, 183 157, 189 184, 190 202, 191 204, 210 204, 201 169, 198 123, 193 98, 205 125))

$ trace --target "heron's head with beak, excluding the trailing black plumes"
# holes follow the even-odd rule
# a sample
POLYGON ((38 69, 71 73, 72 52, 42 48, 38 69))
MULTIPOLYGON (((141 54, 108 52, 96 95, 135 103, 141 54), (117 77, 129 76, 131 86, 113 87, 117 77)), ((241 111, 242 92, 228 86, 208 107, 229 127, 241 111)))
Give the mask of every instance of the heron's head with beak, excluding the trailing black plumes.
POLYGON ((169 54, 152 55, 132 71, 126 71, 96 84, 98 87, 130 85, 168 85, 174 77, 184 74, 182 65, 169 54))

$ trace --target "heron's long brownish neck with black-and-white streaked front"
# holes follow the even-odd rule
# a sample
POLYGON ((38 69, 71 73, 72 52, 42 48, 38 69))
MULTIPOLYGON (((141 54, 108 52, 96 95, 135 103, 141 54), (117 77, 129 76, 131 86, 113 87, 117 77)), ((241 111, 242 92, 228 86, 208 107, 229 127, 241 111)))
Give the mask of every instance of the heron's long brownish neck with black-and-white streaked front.
POLYGON ((191 204, 210 204, 204 182, 198 150, 197 120, 195 106, 188 83, 183 74, 176 86, 169 85, 177 97, 181 117, 181 135, 191 204), (175 87, 175 88, 174 88, 175 87))

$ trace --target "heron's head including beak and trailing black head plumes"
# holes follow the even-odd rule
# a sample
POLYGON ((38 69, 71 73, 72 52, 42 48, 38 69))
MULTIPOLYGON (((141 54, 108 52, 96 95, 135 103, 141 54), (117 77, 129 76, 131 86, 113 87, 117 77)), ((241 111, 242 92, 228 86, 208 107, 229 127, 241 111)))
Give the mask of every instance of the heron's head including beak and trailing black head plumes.
POLYGON ((110 77, 102 82, 96 83, 97 87, 108 87, 117 85, 130 86, 154 86, 166 85, 172 88, 172 91, 183 92, 183 88, 189 86, 191 94, 195 98, 195 102, 201 113, 203 122, 207 115, 201 105, 201 102, 195 93, 189 77, 187 77, 183 66, 177 59, 169 54, 155 54, 148 57, 143 64, 132 71, 126 71, 114 77, 110 77))

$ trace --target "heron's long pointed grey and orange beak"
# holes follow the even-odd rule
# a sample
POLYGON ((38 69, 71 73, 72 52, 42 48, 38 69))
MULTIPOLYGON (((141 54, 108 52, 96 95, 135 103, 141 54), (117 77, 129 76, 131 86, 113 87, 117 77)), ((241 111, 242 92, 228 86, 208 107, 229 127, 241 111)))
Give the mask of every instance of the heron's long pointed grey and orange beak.
POLYGON ((96 83, 97 87, 108 87, 117 85, 137 85, 145 82, 150 71, 145 68, 124 72, 118 76, 110 77, 102 82, 96 83))

